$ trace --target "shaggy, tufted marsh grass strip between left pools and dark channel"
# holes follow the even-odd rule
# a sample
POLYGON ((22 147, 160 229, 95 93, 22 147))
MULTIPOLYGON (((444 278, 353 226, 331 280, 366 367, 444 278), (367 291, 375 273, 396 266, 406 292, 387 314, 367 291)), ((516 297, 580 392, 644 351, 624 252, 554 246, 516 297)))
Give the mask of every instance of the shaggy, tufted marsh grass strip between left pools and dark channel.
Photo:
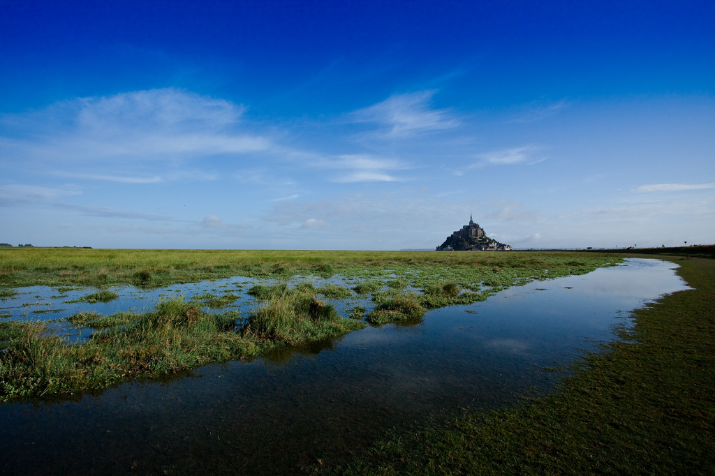
POLYGON ((343 319, 315 293, 279 285, 262 295, 264 305, 242 325, 237 312, 205 313, 183 298, 146 314, 74 314, 67 321, 98 329, 82 344, 66 344, 46 324, 0 323, 0 400, 101 391, 122 380, 175 375, 365 326, 343 319))

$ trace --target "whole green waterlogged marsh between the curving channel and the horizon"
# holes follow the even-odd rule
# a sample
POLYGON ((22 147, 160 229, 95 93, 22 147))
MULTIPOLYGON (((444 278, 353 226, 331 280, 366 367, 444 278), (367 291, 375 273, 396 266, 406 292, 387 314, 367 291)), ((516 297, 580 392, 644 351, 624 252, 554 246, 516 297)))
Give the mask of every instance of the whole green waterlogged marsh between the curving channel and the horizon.
MULTIPOLYGON (((619 261, 575 253, 4 249, 0 283, 21 286, 35 301, 22 302, 24 313, 0 323, 0 400, 97 392, 122 380, 175 375, 209 362, 257 357, 276 346, 340 337, 365 322, 414 323, 427 309, 470 304, 511 286, 619 261), (127 285, 131 293, 202 281, 207 274, 253 280, 247 290, 255 297, 252 307, 206 309, 235 302, 244 287, 239 280, 217 283, 217 293, 163 294, 155 309, 139 313, 119 308, 95 315, 94 306, 89 314, 55 315, 76 302, 112 302, 127 285), (316 287, 320 279, 327 282, 316 287), (91 289, 61 299, 77 287, 91 289), (348 315, 328 302, 355 294, 363 297, 361 305, 372 304, 364 320, 356 319, 355 307, 348 315), (49 302, 54 295, 60 299, 49 302), (85 339, 63 339, 72 327, 85 339)), ((6 311, 22 300, 6 295, 6 311)))

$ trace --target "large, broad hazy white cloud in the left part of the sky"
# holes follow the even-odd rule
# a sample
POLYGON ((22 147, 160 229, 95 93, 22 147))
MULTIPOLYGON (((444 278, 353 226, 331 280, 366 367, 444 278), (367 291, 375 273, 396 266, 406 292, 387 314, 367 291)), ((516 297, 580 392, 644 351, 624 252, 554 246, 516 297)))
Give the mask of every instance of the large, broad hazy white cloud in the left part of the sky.
MULTIPOLYGON (((155 183, 217 155, 272 147, 242 121, 245 107, 178 89, 79 98, 26 114, 4 114, 0 150, 9 163, 66 177, 155 183), (152 165, 154 164, 154 165, 152 165), (87 167, 94 172, 87 174, 87 167), (123 172, 132 168, 132 174, 123 172), (157 169, 158 167, 158 169, 157 169), (153 168, 153 169, 152 169, 153 168), (142 169, 147 174, 137 174, 142 169), (158 173, 157 173, 158 170, 158 173)), ((194 177, 195 178, 195 177, 194 177)))

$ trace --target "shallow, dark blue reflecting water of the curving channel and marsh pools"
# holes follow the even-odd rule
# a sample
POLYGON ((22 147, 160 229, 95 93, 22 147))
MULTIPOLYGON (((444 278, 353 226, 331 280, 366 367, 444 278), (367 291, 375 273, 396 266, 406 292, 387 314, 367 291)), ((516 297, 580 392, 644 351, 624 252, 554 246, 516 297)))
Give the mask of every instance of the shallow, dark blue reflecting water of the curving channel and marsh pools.
MULTIPOLYGON (((0 471, 285 474, 319 458, 340 460, 391 427, 548 392, 564 373, 544 367, 568 365, 614 339, 614 328, 627 329, 632 309, 687 289, 674 267, 629 259, 583 276, 512 287, 484 302, 435 309, 412 327, 368 327, 310 348, 207 365, 166 382, 128 382, 77 401, 0 405, 0 471)), ((235 292, 248 289, 242 284, 248 282, 191 286, 196 293, 207 285, 235 292)), ((170 289, 192 294, 186 287, 170 289)), ((150 310, 169 291, 132 292, 132 305, 150 310)), ((42 301, 34 296, 42 296, 41 289, 21 298, 42 301)), ((17 309, 10 305, 15 299, 0 304, 17 309)), ((123 309, 112 310, 122 299, 81 305, 109 314, 123 309)), ((250 307, 242 299, 237 308, 250 307)))

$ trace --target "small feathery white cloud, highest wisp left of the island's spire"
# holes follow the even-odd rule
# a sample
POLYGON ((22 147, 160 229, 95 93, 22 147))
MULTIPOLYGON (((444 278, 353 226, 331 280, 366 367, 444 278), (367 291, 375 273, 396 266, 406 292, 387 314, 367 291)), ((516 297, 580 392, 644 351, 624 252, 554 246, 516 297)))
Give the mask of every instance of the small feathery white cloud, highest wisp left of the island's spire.
POLYGON ((432 109, 435 91, 395 94, 385 101, 352 113, 354 122, 374 122, 386 128, 385 137, 408 137, 417 133, 450 129, 458 120, 448 109, 432 109))

